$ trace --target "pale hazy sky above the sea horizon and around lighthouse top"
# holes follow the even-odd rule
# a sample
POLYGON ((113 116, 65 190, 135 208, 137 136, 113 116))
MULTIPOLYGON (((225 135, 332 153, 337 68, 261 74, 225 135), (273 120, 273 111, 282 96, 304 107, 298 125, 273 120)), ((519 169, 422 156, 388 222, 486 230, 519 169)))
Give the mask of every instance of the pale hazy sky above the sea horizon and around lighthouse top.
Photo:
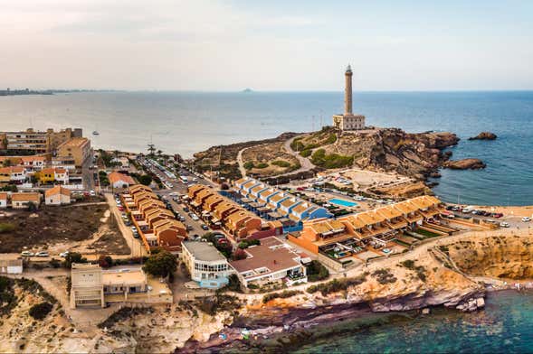
POLYGON ((0 87, 533 89, 533 1, 0 0, 0 87))

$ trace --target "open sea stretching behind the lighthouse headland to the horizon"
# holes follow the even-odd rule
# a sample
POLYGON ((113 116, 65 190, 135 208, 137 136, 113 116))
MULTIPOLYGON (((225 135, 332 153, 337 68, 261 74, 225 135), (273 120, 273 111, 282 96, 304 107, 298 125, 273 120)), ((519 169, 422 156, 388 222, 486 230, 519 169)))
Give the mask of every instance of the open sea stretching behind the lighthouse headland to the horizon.
MULTIPOLYGON (((0 98, 0 130, 84 129, 105 149, 191 157, 218 144, 309 132, 342 112, 342 92, 80 92, 0 98), (100 135, 91 135, 98 131, 100 135)), ((480 171, 443 170, 434 192, 462 204, 533 204, 533 91, 355 92, 370 126, 461 137, 453 159, 480 158, 480 171), (481 131, 495 141, 469 141, 481 131)))

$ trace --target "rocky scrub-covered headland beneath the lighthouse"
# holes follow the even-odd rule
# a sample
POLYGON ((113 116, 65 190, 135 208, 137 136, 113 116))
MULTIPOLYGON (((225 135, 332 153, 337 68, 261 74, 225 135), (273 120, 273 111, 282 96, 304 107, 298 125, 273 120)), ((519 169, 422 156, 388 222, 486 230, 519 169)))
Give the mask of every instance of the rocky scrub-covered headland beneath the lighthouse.
POLYGON ((242 176, 238 161, 242 159, 241 171, 245 168, 249 174, 268 178, 301 171, 294 156, 298 154, 299 158, 309 159, 314 172, 353 166, 425 181, 439 176, 438 169, 452 156, 444 149, 459 140, 450 132, 413 134, 398 128, 376 128, 341 134, 325 127, 319 132, 286 133, 274 139, 214 146, 195 154, 195 166, 201 171, 218 170, 222 176, 236 179, 242 176))

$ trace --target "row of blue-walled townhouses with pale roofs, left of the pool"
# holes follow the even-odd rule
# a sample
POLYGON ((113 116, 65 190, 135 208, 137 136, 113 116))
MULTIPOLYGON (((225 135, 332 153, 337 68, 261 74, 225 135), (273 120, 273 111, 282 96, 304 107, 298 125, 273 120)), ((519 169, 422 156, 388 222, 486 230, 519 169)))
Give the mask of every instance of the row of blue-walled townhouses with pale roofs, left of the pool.
POLYGON ((307 219, 332 217, 325 208, 252 178, 243 178, 234 182, 233 189, 239 193, 243 202, 268 219, 286 218, 300 223, 307 219))

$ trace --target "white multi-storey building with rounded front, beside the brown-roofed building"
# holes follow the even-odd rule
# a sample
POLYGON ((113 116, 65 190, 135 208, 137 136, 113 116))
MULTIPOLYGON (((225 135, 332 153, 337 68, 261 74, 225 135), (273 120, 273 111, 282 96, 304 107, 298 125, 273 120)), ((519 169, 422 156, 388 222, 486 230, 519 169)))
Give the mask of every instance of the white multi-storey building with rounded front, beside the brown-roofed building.
POLYGON ((233 273, 226 257, 207 242, 184 242, 181 259, 200 287, 218 289, 228 284, 233 273))

